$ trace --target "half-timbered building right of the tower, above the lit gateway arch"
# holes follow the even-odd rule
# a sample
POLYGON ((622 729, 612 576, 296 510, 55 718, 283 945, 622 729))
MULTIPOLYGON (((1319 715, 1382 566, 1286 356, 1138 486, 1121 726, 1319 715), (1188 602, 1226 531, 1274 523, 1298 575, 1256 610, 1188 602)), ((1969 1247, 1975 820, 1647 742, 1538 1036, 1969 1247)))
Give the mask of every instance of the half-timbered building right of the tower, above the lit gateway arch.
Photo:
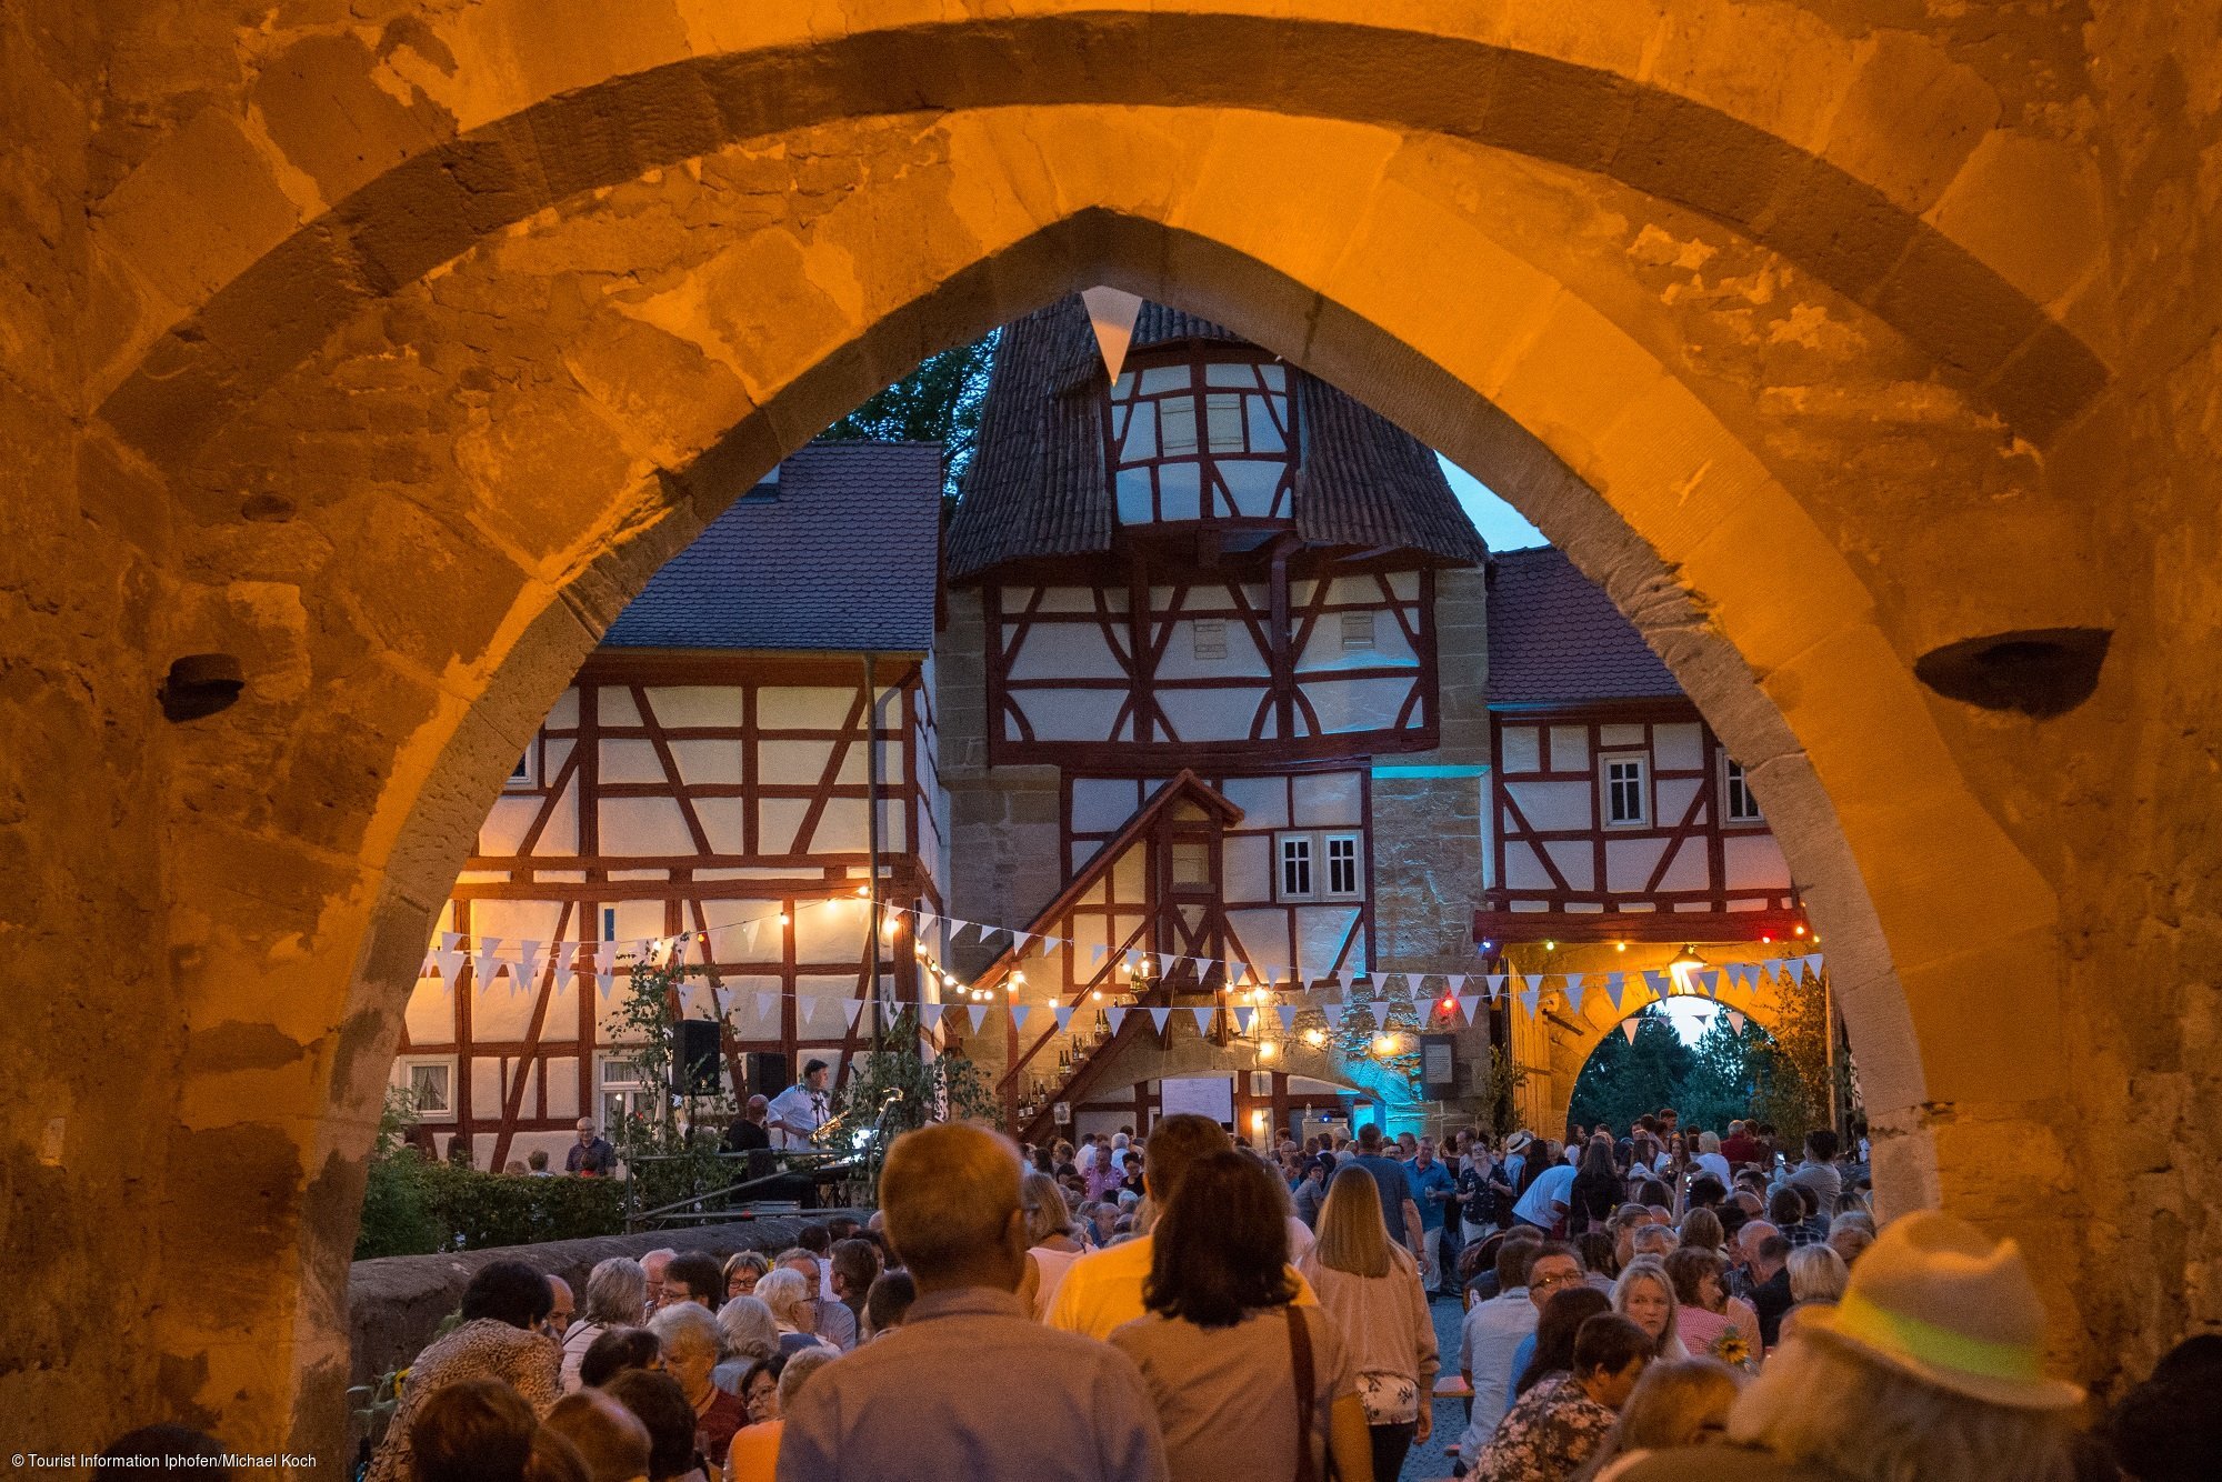
MULTIPOLYGON (((1744 767, 1555 549, 1491 562, 1489 724, 1489 880, 1473 938, 1500 971, 1593 984, 1649 971, 1693 991, 1706 967, 1804 949, 1804 904, 1744 767)), ((1624 1009, 1640 1002, 1631 989, 1624 1009)), ((1562 1118, 1620 1011, 1598 989, 1584 1009, 1553 991, 1513 1015, 1535 1126, 1562 1118)))

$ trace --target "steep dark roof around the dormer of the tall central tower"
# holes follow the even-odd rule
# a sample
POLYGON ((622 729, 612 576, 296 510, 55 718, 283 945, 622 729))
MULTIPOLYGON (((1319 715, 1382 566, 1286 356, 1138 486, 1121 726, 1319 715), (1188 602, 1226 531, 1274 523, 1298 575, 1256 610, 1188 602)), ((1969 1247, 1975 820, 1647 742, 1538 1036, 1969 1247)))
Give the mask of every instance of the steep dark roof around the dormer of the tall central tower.
MULTIPOLYGON (((1184 340, 1249 349, 1211 320, 1142 304, 1129 353, 1184 340)), ((1415 438, 1295 371, 1295 533, 1320 547, 1400 549, 1447 564, 1489 560, 1442 467, 1415 438)), ((1013 320, 995 349, 980 447, 949 527, 949 578, 1007 560, 1109 551, 1104 369, 1080 298, 1013 320)))

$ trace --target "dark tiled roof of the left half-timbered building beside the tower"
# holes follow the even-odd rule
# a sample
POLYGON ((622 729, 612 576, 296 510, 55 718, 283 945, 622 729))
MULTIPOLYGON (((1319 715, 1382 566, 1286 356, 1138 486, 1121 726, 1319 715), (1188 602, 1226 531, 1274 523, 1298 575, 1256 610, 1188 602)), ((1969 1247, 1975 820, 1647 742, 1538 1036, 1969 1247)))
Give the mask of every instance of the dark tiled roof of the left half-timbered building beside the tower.
POLYGON ((938 442, 813 442, 673 555, 602 644, 924 651, 940 520, 938 442))

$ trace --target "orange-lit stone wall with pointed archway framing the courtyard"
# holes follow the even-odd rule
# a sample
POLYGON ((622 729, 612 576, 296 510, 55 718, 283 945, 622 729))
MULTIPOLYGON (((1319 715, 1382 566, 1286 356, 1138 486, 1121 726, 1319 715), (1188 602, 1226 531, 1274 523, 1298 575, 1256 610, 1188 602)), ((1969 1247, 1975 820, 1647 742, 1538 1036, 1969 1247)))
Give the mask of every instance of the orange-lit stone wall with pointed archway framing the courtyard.
POLYGON ((2215 7, 31 0, 0 27, 0 1413, 342 1431, 427 927, 600 629, 1093 282, 1484 475, 1746 758, 1878 1180, 2222 1320, 2215 7), (709 460, 713 480, 689 473, 709 460), (2098 627, 2046 720, 1924 653, 2098 627), (247 687, 164 722, 169 662, 247 687))

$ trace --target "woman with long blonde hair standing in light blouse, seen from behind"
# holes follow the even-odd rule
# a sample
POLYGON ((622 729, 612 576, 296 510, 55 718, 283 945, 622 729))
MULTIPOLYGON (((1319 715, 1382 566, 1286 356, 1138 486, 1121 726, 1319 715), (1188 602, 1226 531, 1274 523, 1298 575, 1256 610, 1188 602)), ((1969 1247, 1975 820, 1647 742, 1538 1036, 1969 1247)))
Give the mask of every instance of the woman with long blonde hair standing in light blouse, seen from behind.
POLYGON ((1373 1475, 1391 1480, 1433 1424, 1435 1320, 1420 1266, 1389 1240, 1382 1195, 1364 1169, 1342 1169, 1320 1204, 1318 1242, 1295 1269, 1351 1353, 1373 1442, 1373 1475))

